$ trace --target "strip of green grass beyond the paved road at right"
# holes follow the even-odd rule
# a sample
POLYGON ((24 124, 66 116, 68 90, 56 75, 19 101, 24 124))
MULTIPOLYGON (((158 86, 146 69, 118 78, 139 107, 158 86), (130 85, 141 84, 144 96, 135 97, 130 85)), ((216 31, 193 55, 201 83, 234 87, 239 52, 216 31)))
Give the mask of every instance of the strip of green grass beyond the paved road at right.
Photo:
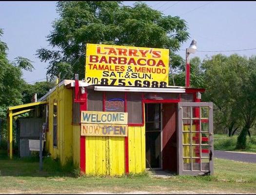
POLYGON ((252 152, 256 153, 256 136, 247 137, 247 148, 245 150, 236 149, 237 136, 228 137, 227 135, 214 135, 214 149, 237 151, 237 152, 252 152))

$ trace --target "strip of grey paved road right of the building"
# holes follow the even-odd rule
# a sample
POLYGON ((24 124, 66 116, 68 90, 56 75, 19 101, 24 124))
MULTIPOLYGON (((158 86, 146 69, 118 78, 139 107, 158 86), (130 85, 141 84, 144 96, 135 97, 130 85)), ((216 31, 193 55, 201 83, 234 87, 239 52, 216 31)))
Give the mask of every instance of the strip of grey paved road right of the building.
POLYGON ((225 158, 230 160, 256 163, 256 154, 238 153, 238 152, 226 152, 226 151, 214 151, 214 156, 217 158, 225 158))

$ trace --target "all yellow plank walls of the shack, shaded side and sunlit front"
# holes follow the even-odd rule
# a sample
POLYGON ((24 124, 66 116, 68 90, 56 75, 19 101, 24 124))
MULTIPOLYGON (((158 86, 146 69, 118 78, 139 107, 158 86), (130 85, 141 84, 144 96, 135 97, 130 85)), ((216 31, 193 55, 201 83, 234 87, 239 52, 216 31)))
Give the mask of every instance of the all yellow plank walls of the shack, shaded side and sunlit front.
MULTIPOLYGON (((68 158, 79 166, 80 125, 72 125, 72 90, 59 87, 47 97, 49 102, 49 132, 46 149, 61 164, 68 158), (58 100, 58 147, 53 146, 53 102, 58 100)), ((128 127, 129 171, 145 171, 145 127, 128 127)), ((124 137, 86 137, 86 174, 118 176, 125 173, 124 137)))

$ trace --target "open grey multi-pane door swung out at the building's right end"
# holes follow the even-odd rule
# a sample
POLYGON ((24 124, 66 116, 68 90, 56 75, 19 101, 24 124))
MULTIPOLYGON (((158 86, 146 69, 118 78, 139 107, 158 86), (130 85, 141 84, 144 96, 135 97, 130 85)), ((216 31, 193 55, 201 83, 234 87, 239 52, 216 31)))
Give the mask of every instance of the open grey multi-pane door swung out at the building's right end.
POLYGON ((213 103, 178 103, 178 174, 213 174, 213 103))

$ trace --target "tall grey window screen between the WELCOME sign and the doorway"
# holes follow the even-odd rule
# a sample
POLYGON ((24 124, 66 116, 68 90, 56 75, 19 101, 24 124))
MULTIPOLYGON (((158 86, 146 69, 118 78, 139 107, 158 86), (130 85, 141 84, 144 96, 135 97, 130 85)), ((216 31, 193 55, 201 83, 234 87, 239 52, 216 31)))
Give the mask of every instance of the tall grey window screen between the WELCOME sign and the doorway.
POLYGON ((127 93, 128 124, 141 124, 142 101, 141 93, 127 93))

